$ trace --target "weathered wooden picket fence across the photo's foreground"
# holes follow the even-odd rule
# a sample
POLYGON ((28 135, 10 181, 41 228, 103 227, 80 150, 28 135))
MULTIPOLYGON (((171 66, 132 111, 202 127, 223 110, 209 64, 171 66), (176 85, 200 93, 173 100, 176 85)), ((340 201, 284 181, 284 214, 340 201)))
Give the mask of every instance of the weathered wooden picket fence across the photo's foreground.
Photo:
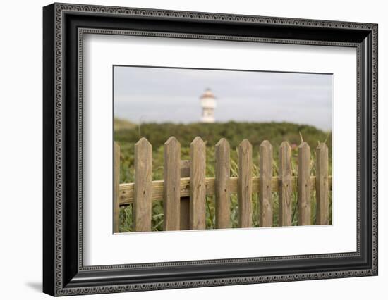
POLYGON ((258 193, 259 226, 271 227, 272 192, 279 193, 279 226, 291 226, 292 192, 298 194, 298 225, 311 225, 311 192, 316 192, 316 225, 329 223, 328 149, 316 149, 316 176, 310 176, 310 146, 298 146, 298 177, 291 175, 291 146, 279 147, 279 176, 272 176, 272 145, 259 147, 259 177, 253 177, 253 150, 248 139, 238 146, 238 177, 230 177, 230 146, 220 139, 215 147, 215 177, 205 177, 205 142, 195 137, 190 160, 181 161, 181 144, 170 137, 164 144, 164 180, 152 181, 152 145, 135 144, 135 180, 119 182, 120 147, 114 144, 114 232, 119 232, 119 208, 133 204, 133 230, 151 230, 152 201, 164 201, 164 230, 205 229, 205 196, 215 195, 216 227, 231 227, 230 195, 238 196, 238 227, 252 227, 252 194, 258 193))

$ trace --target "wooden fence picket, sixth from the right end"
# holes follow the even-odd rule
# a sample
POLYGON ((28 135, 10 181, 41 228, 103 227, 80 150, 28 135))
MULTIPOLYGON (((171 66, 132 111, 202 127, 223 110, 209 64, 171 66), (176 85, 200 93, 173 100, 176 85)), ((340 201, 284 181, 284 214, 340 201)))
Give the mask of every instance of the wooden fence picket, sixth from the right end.
POLYGON ((230 146, 226 139, 220 139, 215 149, 215 203, 216 203, 216 227, 230 228, 230 146))

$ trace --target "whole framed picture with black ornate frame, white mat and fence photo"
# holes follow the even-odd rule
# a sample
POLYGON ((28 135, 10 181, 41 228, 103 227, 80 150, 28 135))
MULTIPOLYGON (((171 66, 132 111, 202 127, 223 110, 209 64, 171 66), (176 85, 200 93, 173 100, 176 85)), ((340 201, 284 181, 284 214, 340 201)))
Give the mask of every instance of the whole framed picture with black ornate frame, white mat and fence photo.
POLYGON ((45 293, 377 275, 377 24, 43 20, 45 293))

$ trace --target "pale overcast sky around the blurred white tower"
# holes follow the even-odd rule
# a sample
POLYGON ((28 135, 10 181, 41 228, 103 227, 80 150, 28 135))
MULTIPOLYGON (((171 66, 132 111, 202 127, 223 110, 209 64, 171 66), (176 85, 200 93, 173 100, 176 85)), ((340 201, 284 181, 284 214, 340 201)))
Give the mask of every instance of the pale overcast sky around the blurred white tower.
POLYGON ((292 122, 332 130, 332 75, 114 67, 114 116, 133 123, 199 122, 200 96, 215 119, 292 122))

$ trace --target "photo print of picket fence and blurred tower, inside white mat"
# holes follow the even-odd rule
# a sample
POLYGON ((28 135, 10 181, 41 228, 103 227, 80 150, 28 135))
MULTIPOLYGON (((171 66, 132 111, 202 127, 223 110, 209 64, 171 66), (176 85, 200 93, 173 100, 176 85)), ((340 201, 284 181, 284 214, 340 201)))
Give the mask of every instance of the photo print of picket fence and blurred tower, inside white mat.
POLYGON ((113 232, 332 225, 332 73, 113 66, 113 232))

